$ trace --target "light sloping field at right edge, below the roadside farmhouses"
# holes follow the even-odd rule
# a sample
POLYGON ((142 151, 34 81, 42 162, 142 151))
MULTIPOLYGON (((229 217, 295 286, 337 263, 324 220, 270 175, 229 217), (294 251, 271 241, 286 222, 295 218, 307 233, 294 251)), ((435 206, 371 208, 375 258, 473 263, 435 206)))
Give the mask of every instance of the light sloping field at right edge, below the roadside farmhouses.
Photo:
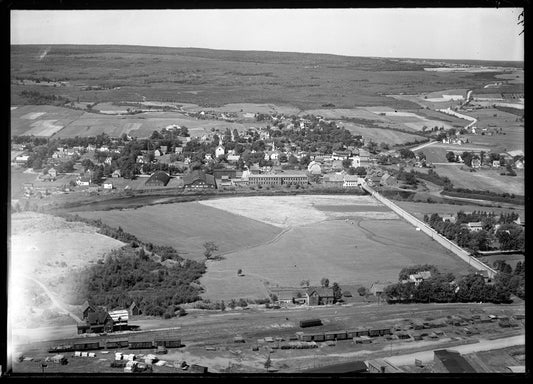
POLYGON ((448 177, 455 188, 487 190, 497 193, 524 195, 524 171, 517 170, 516 176, 502 176, 500 169, 482 169, 477 172, 462 170, 460 166, 435 165, 439 176, 448 177))

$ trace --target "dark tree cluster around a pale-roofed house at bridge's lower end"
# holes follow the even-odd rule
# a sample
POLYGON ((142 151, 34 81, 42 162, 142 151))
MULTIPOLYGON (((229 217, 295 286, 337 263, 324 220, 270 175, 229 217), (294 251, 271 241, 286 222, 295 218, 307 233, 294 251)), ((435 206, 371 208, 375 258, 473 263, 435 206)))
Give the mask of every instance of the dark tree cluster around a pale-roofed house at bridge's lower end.
MULTIPOLYGON (((426 266, 427 268, 428 266, 426 266)), ((431 277, 420 282, 398 282, 387 286, 384 294, 389 303, 453 303, 453 302, 511 302, 510 291, 498 279, 494 284, 486 283, 483 276, 468 274, 458 281, 453 274, 443 275, 432 267, 431 277)), ((413 270, 420 271, 418 268, 413 270)), ((402 270, 404 272, 404 270, 402 270)), ((400 274, 400 280, 405 280, 400 274)))

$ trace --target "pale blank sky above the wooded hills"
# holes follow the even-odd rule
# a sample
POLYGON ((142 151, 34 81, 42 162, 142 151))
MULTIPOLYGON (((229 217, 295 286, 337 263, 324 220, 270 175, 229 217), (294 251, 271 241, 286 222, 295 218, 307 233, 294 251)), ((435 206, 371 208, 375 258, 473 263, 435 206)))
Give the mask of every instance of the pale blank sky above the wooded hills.
POLYGON ((11 44, 524 59, 520 8, 11 11, 11 44))

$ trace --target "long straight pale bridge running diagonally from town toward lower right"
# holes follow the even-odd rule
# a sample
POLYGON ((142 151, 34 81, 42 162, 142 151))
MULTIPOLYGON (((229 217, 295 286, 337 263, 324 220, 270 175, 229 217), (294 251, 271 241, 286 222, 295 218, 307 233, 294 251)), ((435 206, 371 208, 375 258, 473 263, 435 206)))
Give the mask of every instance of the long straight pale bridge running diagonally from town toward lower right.
POLYGON ((370 193, 372 197, 374 197, 376 200, 380 201, 381 203, 383 203, 384 205, 392 209, 394 212, 396 212, 401 218, 411 223, 415 227, 420 228, 420 230, 424 232, 426 235, 431 237, 433 240, 437 241, 444 248, 452 251, 454 254, 459 256, 463 261, 467 262, 469 265, 471 265, 478 271, 487 271, 488 276, 491 279, 494 278, 494 276, 496 275, 496 270, 492 269, 491 267, 481 262, 480 260, 476 259, 475 257, 472 257, 469 252, 465 251, 463 248, 459 247, 457 244, 448 240, 446 237, 442 236, 440 233, 435 231, 433 228, 431 228, 429 225, 427 225, 423 221, 411 215, 409 212, 398 207, 396 204, 394 204, 389 199, 381 196, 378 192, 374 191, 368 185, 362 185, 362 188, 368 193, 370 193))

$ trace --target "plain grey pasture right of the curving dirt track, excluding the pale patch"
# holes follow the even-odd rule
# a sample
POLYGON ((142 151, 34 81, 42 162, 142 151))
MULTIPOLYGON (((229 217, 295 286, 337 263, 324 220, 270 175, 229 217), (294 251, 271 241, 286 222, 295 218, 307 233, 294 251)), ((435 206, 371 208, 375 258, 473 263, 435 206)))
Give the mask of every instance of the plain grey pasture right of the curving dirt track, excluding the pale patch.
POLYGON ((455 274, 467 269, 463 261, 399 218, 354 216, 350 221, 294 227, 267 245, 226 254, 224 260, 209 264, 200 281, 206 288, 203 297, 228 300, 254 297, 257 282, 271 287, 297 287, 302 280, 318 285, 322 277, 367 287, 375 281, 396 282, 404 266, 424 263, 455 274), (237 276, 237 269, 248 280, 237 276), (250 284, 252 278, 257 282, 250 284))

